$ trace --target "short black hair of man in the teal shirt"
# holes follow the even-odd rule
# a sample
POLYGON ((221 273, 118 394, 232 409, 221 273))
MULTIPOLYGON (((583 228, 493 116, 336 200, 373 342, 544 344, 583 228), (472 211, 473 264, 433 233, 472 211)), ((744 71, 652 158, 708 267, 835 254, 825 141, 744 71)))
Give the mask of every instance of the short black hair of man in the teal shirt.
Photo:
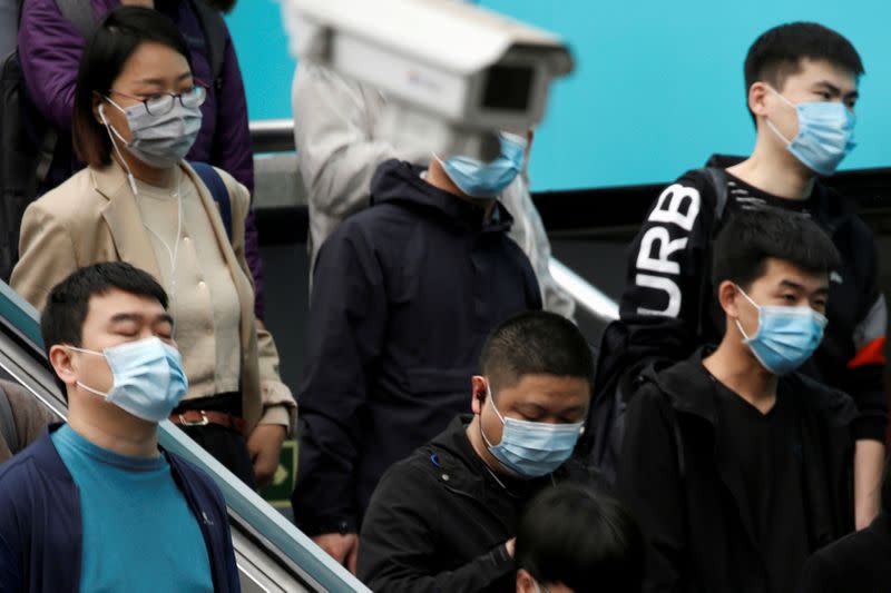
POLYGON ((47 296, 40 317, 47 356, 57 344, 80 346, 90 298, 115 289, 154 298, 167 308, 167 293, 157 280, 126 261, 106 261, 80 268, 57 284, 47 296))

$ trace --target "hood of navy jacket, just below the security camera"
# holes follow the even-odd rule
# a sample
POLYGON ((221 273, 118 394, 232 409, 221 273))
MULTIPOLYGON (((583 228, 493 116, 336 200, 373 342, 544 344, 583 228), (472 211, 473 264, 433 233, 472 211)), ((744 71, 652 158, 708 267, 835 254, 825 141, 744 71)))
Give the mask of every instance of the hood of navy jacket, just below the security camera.
POLYGON ((483 231, 506 231, 513 217, 496 204, 491 219, 483 223, 482 208, 466 199, 443 191, 421 178, 427 167, 391 159, 381 164, 371 180, 371 204, 395 204, 435 213, 457 221, 461 227, 483 231))

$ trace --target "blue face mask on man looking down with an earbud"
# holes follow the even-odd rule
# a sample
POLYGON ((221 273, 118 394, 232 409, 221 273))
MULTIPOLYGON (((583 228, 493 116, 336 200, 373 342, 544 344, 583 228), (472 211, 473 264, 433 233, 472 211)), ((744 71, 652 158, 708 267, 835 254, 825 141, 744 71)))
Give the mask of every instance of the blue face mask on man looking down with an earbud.
POLYGON ((487 397, 505 429, 501 433, 501 442, 497 445, 489 442, 482 432, 481 422, 480 434, 489 453, 515 474, 522 477, 550 474, 572 454, 584 431, 584 422, 549 424, 505 418, 495 406, 491 391, 487 397))

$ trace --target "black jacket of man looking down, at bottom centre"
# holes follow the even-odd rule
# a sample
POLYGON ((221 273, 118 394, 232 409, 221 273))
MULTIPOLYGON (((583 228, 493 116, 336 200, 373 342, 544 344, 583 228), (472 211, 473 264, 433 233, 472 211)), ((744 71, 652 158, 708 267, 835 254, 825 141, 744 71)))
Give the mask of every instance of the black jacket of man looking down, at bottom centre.
POLYGON ((506 490, 470 444, 472 417, 454 418, 381 478, 359 545, 358 574, 373 591, 513 592, 505 543, 517 535, 523 505, 559 482, 598 484, 570 458, 548 476, 501 476, 506 490))

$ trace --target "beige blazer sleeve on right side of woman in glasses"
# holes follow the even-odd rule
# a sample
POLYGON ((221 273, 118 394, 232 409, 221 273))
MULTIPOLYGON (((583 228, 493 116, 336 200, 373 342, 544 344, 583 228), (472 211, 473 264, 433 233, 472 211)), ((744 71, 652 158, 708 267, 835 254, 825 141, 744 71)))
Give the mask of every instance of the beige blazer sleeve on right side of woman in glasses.
MULTIPOLYGON (((253 286, 254 280, 244 255, 244 220, 247 217, 251 195, 247 188, 237 182, 231 175, 222 170, 219 170, 219 174, 226 182, 226 188, 232 198, 233 221, 237 221, 232 233, 232 248, 235 251, 238 266, 241 266, 253 286)), ((253 305, 251 310, 253 310, 253 305)), ((272 334, 266 329, 256 327, 256 322, 254 327, 257 333, 260 387, 263 399, 263 414, 260 418, 260 424, 281 424, 288 428, 288 436, 291 436, 296 426, 297 403, 291 393, 291 388, 282 382, 282 376, 278 374, 278 349, 275 347, 272 334)))

